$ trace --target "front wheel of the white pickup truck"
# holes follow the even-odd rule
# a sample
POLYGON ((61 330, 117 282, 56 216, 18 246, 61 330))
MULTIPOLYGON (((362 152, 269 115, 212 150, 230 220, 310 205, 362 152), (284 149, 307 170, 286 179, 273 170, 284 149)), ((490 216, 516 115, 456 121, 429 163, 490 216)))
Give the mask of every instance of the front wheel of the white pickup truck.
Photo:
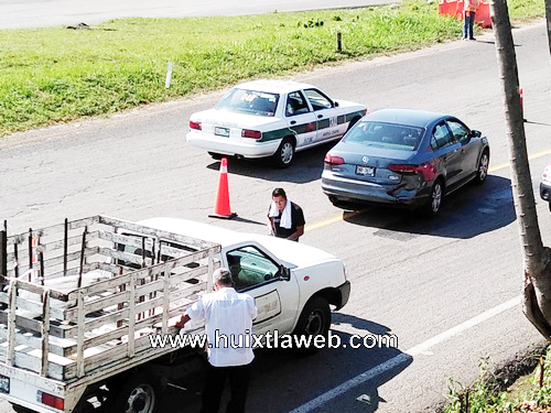
MULTIPOLYGON (((310 346, 295 346, 298 354, 309 356, 317 352, 320 348, 314 346, 314 338, 323 336, 327 338, 331 326, 331 308, 327 300, 324 297, 311 298, 302 309, 296 327, 293 330, 295 339, 303 340, 310 338, 310 346)), ((304 343, 304 341, 302 341, 304 343)))

